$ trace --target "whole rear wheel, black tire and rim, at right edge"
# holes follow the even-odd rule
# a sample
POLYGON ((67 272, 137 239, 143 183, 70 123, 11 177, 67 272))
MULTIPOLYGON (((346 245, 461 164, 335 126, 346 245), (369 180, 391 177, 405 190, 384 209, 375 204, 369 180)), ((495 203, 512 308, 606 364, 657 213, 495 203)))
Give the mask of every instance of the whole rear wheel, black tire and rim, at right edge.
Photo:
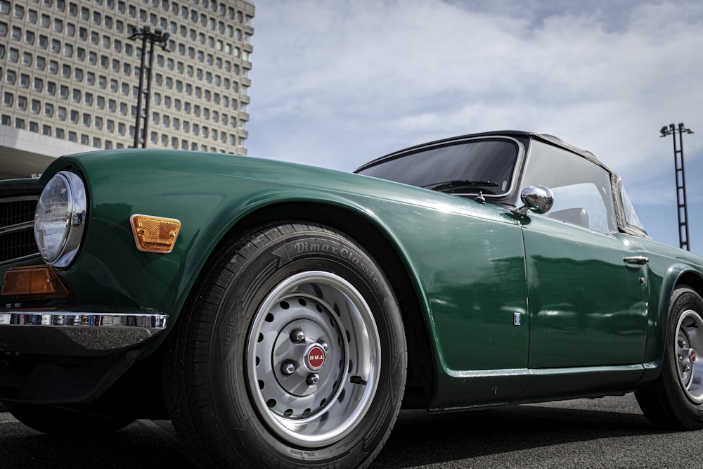
POLYGON ((635 397, 658 428, 703 428, 703 300, 692 288, 673 291, 662 373, 635 397))

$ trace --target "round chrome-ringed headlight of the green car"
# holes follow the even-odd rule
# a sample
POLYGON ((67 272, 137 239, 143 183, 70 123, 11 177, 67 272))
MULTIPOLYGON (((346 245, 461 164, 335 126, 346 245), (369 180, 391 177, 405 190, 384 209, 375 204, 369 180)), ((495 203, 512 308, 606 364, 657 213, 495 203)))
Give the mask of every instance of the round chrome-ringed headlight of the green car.
POLYGON ((34 211, 34 239, 47 264, 65 267, 83 238, 86 191, 72 172, 56 173, 41 192, 34 211))

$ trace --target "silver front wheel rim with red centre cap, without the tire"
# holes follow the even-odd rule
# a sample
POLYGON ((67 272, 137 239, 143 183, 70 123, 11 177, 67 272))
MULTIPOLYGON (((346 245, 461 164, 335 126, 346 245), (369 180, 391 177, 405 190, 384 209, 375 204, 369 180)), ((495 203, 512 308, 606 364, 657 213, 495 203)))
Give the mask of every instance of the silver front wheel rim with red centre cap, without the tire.
POLYGON ((366 300, 344 278, 306 271, 264 299, 247 338, 247 383, 264 423, 295 446, 354 430, 378 386, 380 340, 366 300))

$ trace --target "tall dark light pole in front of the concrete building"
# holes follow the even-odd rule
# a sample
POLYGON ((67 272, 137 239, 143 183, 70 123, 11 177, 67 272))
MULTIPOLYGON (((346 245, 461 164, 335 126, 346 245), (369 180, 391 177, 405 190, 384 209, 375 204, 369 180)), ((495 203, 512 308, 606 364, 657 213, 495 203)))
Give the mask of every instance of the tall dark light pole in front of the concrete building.
POLYGON ((134 124, 134 146, 146 148, 147 127, 149 124, 149 102, 151 101, 151 69, 154 66, 154 44, 158 44, 165 52, 170 52, 168 49, 168 40, 171 35, 162 30, 151 32, 148 26, 141 28, 131 26, 131 35, 127 39, 141 39, 141 68, 139 68, 139 94, 136 101, 136 123, 134 124), (149 43, 149 66, 146 65, 146 43, 149 43), (144 79, 146 75, 146 87, 144 79), (142 108, 142 105, 144 108, 142 108), (143 124, 143 125, 142 125, 143 124))

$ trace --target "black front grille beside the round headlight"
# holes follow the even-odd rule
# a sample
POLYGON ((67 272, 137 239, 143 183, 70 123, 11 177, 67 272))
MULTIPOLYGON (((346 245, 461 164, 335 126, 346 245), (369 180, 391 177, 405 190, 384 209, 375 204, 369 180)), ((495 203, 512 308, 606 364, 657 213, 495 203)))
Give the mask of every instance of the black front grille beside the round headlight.
POLYGON ((0 263, 39 254, 34 241, 34 209, 38 197, 0 200, 0 263))

